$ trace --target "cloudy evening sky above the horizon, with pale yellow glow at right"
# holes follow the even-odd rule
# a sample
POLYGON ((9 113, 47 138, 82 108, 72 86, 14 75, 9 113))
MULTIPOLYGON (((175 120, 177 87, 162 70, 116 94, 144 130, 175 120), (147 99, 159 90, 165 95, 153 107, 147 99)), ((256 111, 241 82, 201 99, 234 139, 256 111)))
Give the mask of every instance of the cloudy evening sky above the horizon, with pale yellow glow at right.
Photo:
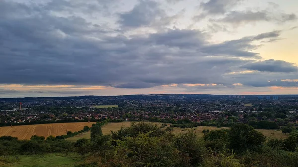
POLYGON ((0 98, 298 94, 298 0, 0 0, 0 98))

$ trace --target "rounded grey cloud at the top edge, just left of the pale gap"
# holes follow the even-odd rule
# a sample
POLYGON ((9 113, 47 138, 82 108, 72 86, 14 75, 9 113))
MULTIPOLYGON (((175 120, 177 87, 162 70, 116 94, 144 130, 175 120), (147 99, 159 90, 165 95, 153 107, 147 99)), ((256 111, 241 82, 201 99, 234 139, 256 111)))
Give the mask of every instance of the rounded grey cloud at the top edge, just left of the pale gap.
POLYGON ((150 25, 163 11, 158 3, 151 0, 140 0, 131 11, 121 13, 119 24, 126 27, 150 25))

